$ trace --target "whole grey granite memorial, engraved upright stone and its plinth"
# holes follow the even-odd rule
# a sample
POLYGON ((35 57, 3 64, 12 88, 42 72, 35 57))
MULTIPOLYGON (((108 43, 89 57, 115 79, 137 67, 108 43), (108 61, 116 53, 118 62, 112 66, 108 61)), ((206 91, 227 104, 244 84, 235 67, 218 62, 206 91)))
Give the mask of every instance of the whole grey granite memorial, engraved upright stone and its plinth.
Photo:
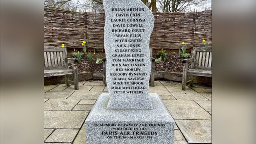
POLYGON ((87 144, 172 144, 174 120, 156 93, 148 93, 154 17, 141 0, 104 0, 104 48, 109 93, 86 121, 87 144))

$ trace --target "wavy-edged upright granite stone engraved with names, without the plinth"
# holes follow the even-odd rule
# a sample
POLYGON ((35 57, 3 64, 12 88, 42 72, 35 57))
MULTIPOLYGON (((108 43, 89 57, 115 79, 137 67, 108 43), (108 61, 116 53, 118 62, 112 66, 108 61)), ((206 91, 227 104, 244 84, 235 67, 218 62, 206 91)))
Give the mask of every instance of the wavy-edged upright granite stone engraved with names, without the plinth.
POLYGON ((152 109, 148 97, 154 16, 141 0, 104 0, 108 109, 152 109))

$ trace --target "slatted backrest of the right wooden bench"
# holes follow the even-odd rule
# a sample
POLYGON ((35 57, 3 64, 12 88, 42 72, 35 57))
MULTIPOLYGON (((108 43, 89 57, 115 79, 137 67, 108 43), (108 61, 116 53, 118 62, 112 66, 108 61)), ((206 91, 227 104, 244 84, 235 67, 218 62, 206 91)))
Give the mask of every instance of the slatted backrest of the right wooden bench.
POLYGON ((195 62, 191 64, 191 68, 211 68, 211 47, 195 47, 192 51, 192 58, 195 59, 195 62))

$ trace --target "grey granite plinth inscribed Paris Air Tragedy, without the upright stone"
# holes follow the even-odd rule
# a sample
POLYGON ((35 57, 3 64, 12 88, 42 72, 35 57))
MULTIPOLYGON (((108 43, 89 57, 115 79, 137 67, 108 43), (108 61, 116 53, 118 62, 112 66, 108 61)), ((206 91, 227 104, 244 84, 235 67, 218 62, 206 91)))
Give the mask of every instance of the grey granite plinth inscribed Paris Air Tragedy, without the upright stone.
POLYGON ((109 110, 109 94, 99 96, 85 120, 86 144, 173 144, 174 120, 156 93, 151 110, 109 110))

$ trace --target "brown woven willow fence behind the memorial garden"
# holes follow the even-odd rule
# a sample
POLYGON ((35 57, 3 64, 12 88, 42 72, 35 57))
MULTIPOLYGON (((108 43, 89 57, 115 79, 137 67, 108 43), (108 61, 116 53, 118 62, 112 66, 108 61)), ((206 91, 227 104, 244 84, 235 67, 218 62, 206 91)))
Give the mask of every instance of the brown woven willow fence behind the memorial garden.
MULTIPOLYGON (((184 41, 187 49, 212 40, 211 10, 195 13, 153 13, 154 29, 150 38, 153 50, 178 50, 184 41)), ((44 7, 44 45, 66 48, 104 49, 104 13, 79 13, 44 7)))

